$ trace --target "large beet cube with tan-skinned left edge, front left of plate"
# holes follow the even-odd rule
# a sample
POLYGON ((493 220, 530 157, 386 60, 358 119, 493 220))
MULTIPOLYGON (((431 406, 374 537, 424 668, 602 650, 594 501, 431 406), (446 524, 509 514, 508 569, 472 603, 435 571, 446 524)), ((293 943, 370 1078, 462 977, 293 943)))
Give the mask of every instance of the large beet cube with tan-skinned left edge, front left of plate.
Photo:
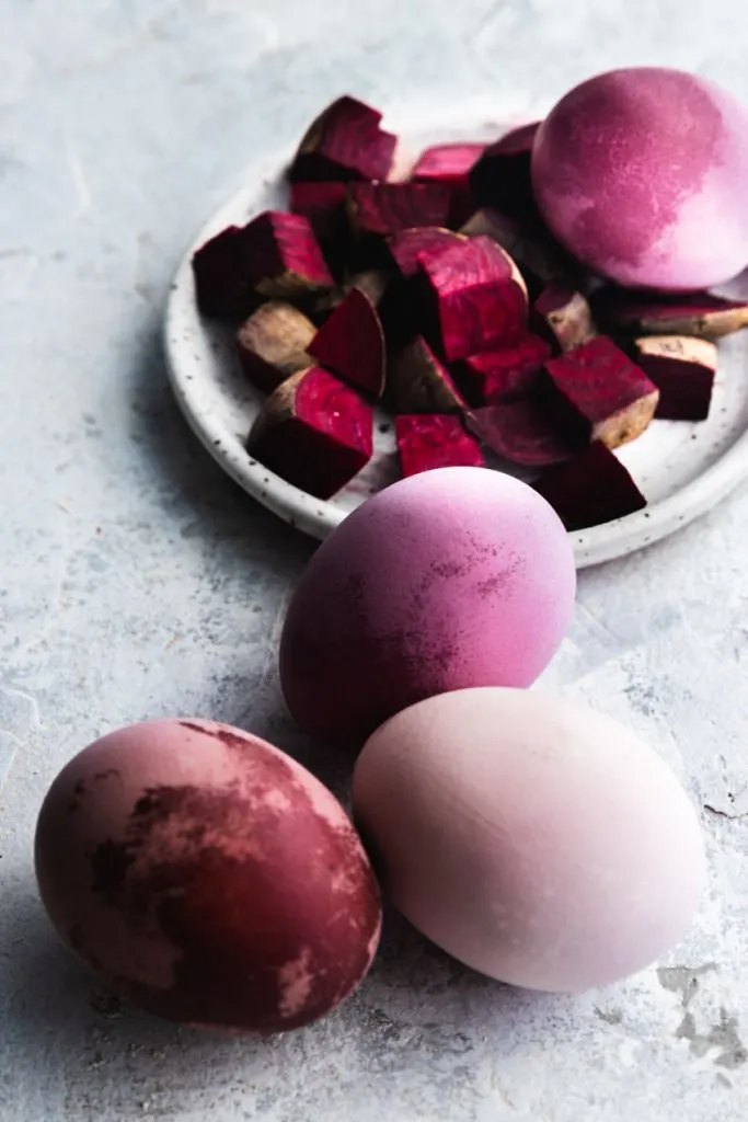
POLYGON ((268 397, 247 450, 281 479, 330 498, 371 459, 373 411, 320 367, 292 375, 268 397))

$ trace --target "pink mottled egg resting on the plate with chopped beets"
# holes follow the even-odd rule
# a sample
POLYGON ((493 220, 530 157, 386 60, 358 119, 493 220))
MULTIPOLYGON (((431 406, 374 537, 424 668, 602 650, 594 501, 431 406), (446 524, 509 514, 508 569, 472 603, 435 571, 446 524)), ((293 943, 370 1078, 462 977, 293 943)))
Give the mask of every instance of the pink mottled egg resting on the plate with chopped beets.
POLYGON ((689 291, 748 265, 748 113, 683 71, 611 71, 541 126, 533 186, 581 261, 621 285, 689 291))

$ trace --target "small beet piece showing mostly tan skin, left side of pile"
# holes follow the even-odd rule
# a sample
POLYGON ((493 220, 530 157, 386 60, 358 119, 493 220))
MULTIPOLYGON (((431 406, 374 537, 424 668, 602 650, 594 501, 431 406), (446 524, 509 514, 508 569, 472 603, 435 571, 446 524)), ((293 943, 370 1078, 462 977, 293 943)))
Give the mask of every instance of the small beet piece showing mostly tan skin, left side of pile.
POLYGON ((262 304, 237 333, 237 347, 247 376, 258 389, 271 394, 281 381, 312 366, 306 348, 316 328, 292 304, 271 300, 262 304))

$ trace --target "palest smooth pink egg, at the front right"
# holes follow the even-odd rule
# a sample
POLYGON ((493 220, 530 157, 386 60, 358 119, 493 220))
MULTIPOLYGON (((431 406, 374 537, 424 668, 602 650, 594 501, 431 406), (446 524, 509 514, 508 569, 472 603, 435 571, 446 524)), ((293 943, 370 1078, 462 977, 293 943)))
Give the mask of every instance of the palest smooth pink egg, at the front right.
POLYGON ((646 744, 535 691, 477 689, 393 717, 355 765, 382 889, 490 977, 580 991, 668 950, 704 882, 694 810, 646 744))

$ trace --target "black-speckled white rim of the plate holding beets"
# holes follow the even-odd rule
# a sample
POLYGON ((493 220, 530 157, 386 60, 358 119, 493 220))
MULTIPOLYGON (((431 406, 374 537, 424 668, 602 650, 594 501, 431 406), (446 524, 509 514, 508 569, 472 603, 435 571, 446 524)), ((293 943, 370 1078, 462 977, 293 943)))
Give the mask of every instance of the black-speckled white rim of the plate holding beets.
MULTIPOLYGON (((430 114, 431 116, 431 114, 430 114)), ((478 107, 471 117, 464 110, 461 120, 486 120, 486 107, 478 107)), ((528 120, 532 114, 517 112, 504 120, 528 120)), ((506 127, 506 126, 504 126, 506 127)), ((413 122, 413 130, 418 131, 413 122)), ((407 129, 401 127, 407 136, 407 129)), ((191 429, 204 448, 243 490, 265 507, 303 533, 323 540, 347 516, 330 503, 315 498, 286 482, 253 460, 238 440, 227 440, 227 433, 215 417, 202 407, 194 385, 201 379, 201 364, 190 346, 191 324, 198 321, 195 306, 192 256, 194 251, 223 227, 230 224, 247 200, 247 183, 276 180, 279 168, 287 165, 292 153, 276 153, 255 163, 246 185, 238 190, 200 229, 191 241, 174 276, 164 320, 164 350, 167 374, 177 404, 191 429)), ((248 215, 249 217, 249 215, 248 215)), ((646 509, 570 533, 578 569, 601 564, 644 549, 686 526, 711 511, 748 476, 748 430, 713 465, 674 495, 650 503, 646 509)))

